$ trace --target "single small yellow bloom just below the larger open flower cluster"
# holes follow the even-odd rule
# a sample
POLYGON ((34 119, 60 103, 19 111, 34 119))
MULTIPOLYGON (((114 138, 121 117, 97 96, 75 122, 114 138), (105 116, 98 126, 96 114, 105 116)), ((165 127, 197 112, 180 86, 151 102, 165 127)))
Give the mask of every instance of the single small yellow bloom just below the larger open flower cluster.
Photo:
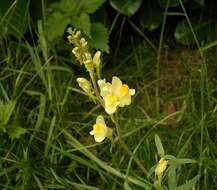
POLYGON ((96 142, 102 142, 106 137, 111 138, 112 129, 108 128, 105 124, 103 116, 98 116, 96 123, 93 125, 93 130, 90 131, 90 135, 94 135, 96 142))

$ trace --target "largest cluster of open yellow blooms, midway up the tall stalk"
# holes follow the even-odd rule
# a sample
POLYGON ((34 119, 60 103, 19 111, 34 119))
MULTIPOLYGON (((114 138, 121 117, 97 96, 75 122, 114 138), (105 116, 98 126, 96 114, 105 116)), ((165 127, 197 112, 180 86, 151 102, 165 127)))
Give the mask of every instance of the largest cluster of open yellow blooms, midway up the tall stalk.
POLYGON ((131 104, 131 96, 135 94, 134 89, 122 84, 118 77, 112 77, 112 84, 104 80, 98 80, 100 95, 105 102, 105 111, 113 114, 118 107, 131 104))

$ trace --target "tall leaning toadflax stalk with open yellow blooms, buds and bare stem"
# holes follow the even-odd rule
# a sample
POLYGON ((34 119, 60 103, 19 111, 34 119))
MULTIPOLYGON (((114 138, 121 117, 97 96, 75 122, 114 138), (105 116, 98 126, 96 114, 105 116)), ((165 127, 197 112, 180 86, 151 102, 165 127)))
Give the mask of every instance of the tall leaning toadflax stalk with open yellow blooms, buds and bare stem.
MULTIPOLYGON (((135 160, 138 167, 147 174, 146 169, 139 159, 130 151, 123 141, 118 123, 117 110, 131 104, 131 97, 135 94, 135 89, 130 89, 127 84, 123 84, 117 76, 112 77, 111 83, 106 82, 106 79, 102 79, 101 52, 97 51, 92 55, 87 41, 82 37, 79 30, 69 28, 68 33, 70 34, 68 40, 74 46, 72 53, 80 64, 84 65, 90 76, 90 80, 83 77, 77 78, 79 87, 94 103, 100 104, 105 109, 105 112, 115 124, 120 145, 135 160)), ((112 133, 113 129, 107 127, 102 115, 96 118, 93 130, 90 131, 90 135, 94 136, 96 142, 102 142, 106 138, 111 139, 112 133)))

